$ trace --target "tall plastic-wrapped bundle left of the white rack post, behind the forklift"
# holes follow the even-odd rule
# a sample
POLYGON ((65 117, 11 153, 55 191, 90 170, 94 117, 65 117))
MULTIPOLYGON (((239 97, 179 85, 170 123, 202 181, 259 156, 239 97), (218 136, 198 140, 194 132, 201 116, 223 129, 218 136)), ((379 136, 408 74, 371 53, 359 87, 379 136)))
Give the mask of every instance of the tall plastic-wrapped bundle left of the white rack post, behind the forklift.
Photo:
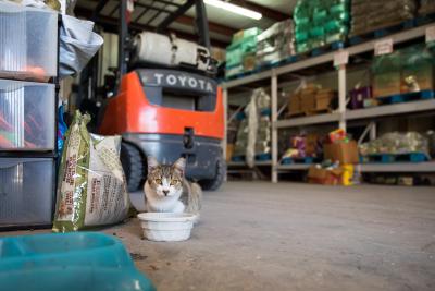
POLYGON ((234 148, 234 159, 240 157, 253 167, 256 158, 270 159, 271 153, 271 98, 263 88, 254 89, 245 109, 234 148))

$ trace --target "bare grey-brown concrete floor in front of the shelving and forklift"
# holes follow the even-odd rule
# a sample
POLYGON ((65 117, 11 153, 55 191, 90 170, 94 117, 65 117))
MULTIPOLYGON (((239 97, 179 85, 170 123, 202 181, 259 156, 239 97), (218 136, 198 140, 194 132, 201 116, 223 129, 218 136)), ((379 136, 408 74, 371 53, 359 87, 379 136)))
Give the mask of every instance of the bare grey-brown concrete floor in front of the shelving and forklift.
MULTIPOLYGON (((141 197, 136 196, 141 201, 141 197)), ((435 189, 231 182, 189 241, 115 234, 158 290, 435 290, 435 189)))

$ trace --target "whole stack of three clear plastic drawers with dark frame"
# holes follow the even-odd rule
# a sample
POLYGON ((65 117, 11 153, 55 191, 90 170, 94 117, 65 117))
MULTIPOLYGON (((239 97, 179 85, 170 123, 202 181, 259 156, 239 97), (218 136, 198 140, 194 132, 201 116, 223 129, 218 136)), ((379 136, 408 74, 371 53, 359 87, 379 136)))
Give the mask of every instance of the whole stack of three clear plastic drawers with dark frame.
POLYGON ((50 225, 58 13, 0 2, 0 228, 50 225))

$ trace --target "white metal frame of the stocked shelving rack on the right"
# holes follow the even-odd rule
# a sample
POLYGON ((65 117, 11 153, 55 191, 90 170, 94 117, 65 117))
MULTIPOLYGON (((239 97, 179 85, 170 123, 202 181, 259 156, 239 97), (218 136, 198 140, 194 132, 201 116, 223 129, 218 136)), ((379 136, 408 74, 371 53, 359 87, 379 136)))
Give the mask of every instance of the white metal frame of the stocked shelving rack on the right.
MULTIPOLYGON (((406 29, 393 35, 385 36, 383 38, 376 38, 360 45, 344 48, 350 57, 361 56, 363 53, 370 53, 374 51, 375 44, 382 40, 391 39, 394 45, 411 43, 411 41, 424 41, 426 31, 430 27, 435 26, 434 23, 426 24, 423 26, 406 29)), ((333 64, 334 58, 341 50, 321 54, 319 57, 311 57, 298 62, 289 63, 283 66, 273 68, 260 73, 248 75, 234 81, 224 82, 223 97, 224 108, 226 110, 228 105, 229 89, 250 86, 253 87, 257 82, 268 82, 270 80, 271 98, 272 98, 272 182, 278 181, 278 172, 294 171, 294 170, 307 170, 309 165, 279 165, 278 163, 278 130, 289 129, 315 124, 327 124, 338 123, 338 126, 346 130, 348 122, 357 120, 375 120, 382 117, 397 116, 397 114, 410 114, 431 112, 435 113, 435 99, 411 101, 405 104, 386 105, 374 108, 365 108, 359 110, 347 110, 346 109, 346 65, 340 65, 337 71, 338 75, 338 109, 332 113, 324 113, 311 117, 291 118, 285 120, 278 120, 278 77, 289 73, 298 73, 306 69, 312 69, 320 65, 333 64)), ((333 70, 333 69, 331 69, 333 70)), ((226 116, 226 112, 225 112, 226 116)), ((371 132, 371 137, 375 136, 375 131, 371 132)), ((226 124, 225 124, 225 138, 226 138, 226 124)), ((224 141, 224 151, 226 149, 226 140, 224 141)), ((264 162, 262 162, 264 163, 264 162)), ((233 163, 229 163, 235 166, 233 163)), ((238 165, 240 166, 240 165, 238 165)), ((263 165, 264 166, 264 165, 263 165)), ((435 162, 420 162, 420 163, 370 163, 359 165, 358 168, 361 172, 435 172, 435 162)))

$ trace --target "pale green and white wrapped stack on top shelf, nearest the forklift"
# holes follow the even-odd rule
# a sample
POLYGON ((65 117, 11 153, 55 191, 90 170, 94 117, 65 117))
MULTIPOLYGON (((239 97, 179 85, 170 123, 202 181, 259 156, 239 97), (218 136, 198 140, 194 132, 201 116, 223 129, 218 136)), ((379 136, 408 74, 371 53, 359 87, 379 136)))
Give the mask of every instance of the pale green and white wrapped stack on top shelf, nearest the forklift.
POLYGON ((226 48, 225 77, 232 77, 256 68, 257 27, 240 31, 233 35, 232 44, 226 48))

